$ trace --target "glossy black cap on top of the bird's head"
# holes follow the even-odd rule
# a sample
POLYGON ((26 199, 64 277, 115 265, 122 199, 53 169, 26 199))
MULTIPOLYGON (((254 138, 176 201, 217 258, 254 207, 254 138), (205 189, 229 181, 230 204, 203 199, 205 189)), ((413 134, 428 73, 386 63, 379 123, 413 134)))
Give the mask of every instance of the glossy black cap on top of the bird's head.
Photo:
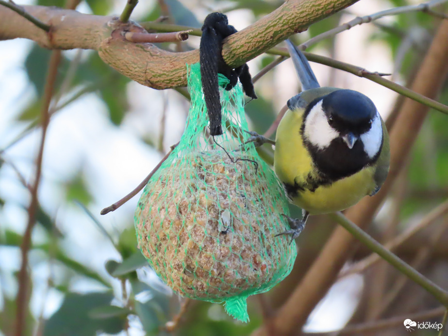
POLYGON ((367 132, 377 109, 373 101, 360 92, 337 90, 322 99, 322 109, 328 123, 341 134, 359 136, 367 132))

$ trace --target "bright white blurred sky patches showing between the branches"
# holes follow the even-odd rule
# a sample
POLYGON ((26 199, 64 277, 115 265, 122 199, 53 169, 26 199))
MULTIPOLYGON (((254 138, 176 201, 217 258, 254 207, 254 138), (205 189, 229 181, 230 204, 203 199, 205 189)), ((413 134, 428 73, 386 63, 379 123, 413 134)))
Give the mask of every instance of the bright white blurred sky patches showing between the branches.
MULTIPOLYGON (((20 1, 20 4, 31 2, 20 1)), ((115 12, 119 13, 126 1, 115 2, 115 12)), ((141 1, 136 7, 135 19, 138 19, 139 12, 144 13, 148 10, 149 3, 153 2, 156 3, 156 1, 141 1)), ((203 8, 192 7, 193 1, 182 2, 197 14, 199 21, 207 14, 203 8)), ((390 7, 386 1, 363 0, 349 10, 358 15, 367 15, 390 7)), ((89 13, 85 3, 82 3, 78 10, 89 13)), ((230 23, 238 30, 254 20, 246 10, 230 12, 228 17, 230 23)), ((342 22, 351 18, 353 17, 344 15, 342 22)), ((381 42, 367 40, 374 29, 374 26, 365 24, 339 34, 336 41, 336 59, 371 71, 391 72, 393 62, 388 47, 381 42)), ((192 37, 192 41, 199 44, 199 38, 192 37)), ((36 96, 24 68, 24 60, 32 45, 33 43, 28 40, 0 42, 0 148, 7 145, 25 128, 26 125, 17 123, 15 118, 36 96)), ((66 54, 74 57, 75 52, 68 51, 66 54)), ((91 51, 83 51, 87 52, 91 51)), ((314 52, 326 54, 324 50, 319 49, 314 52)), ((328 84, 329 68, 313 63, 311 65, 320 84, 328 84)), ((249 67, 252 74, 257 73, 259 60, 249 62, 249 67)), ((267 94, 274 101, 277 111, 290 97, 297 94, 298 80, 295 75, 291 76, 292 73, 294 68, 287 60, 278 67, 272 79, 273 83, 265 85, 262 79, 255 85, 256 90, 270 91, 267 94), (267 86, 268 89, 265 88, 267 86)), ((342 71, 337 71, 335 86, 356 89, 369 96, 382 116, 389 113, 396 97, 389 89, 342 71)), ((104 269, 105 261, 111 258, 119 260, 120 256, 78 205, 64 202, 64 184, 82 173, 93 195, 93 202, 89 205, 90 211, 100 219, 106 230, 117 237, 124 228, 133 226, 133 211, 137 197, 106 216, 101 217, 100 210, 116 202, 138 185, 163 156, 163 153, 145 145, 141 141, 142 135, 154 134, 153 140, 156 141, 160 132, 159 120, 162 117, 163 104, 167 101, 164 141, 166 151, 170 145, 179 140, 188 112, 188 104, 183 97, 171 92, 172 90, 161 94, 137 83, 130 83, 127 89, 131 107, 122 125, 118 127, 110 122, 105 105, 94 93, 87 94, 68 105, 51 119, 39 190, 42 206, 56 218, 58 228, 66 236, 64 248, 67 253, 88 267, 98 269, 105 278, 109 277, 104 269)), ((33 132, 4 155, 8 161, 14 162, 29 182, 33 181, 33 160, 39 141, 40 131, 33 132)), ((27 220, 24 208, 28 206, 30 197, 17 180, 14 170, 8 165, 3 165, 0 170, 0 198, 6 201, 3 210, 0 211, 0 234, 5 228, 23 233, 27 220)), ((41 230, 39 226, 35 228, 33 233, 35 242, 42 241, 44 235, 41 230)), ((18 270, 18 261, 18 249, 0 248, 2 271, 0 285, 10 298, 13 298, 17 291, 12 272, 18 270)), ((42 262, 42 258, 38 253, 31 253, 30 262, 38 264, 42 262)), ((32 308, 36 315, 42 307, 43 296, 39 293, 41 294, 46 288, 48 276, 49 268, 46 263, 33 269, 36 289, 34 293, 37 294, 33 295, 32 308)), ((356 307, 354 303, 362 283, 361 277, 354 277, 335 285, 339 287, 333 288, 326 303, 319 305, 320 310, 312 315, 307 330, 324 331, 342 326, 356 307), (346 309, 335 309, 335 306, 346 306, 346 309)), ((75 281, 71 286, 80 292, 96 289, 86 281, 75 281)), ((118 286, 116 290, 119 290, 118 286)), ((45 316, 50 316, 60 301, 61 295, 55 290, 51 291, 45 316)))

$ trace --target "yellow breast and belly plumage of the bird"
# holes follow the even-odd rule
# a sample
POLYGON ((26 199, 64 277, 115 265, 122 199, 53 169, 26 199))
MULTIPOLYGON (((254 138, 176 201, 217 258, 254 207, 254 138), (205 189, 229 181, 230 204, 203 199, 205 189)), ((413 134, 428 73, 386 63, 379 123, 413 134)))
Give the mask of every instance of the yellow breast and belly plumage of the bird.
MULTIPOLYGON (((305 183, 317 170, 300 134, 303 110, 288 111, 279 124, 274 152, 274 169, 283 183, 305 183)), ((310 214, 324 214, 347 209, 375 188, 374 167, 315 189, 298 190, 292 202, 310 214)), ((290 195, 292 196, 292 195, 290 195)))

